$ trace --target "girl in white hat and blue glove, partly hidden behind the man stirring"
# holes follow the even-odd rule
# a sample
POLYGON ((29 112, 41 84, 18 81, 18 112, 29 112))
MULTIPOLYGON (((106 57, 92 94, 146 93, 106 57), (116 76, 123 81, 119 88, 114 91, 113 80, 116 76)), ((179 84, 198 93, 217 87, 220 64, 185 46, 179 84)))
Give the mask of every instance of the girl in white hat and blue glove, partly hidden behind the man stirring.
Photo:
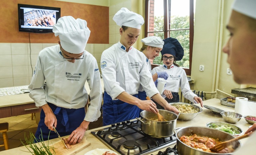
MULTIPOLYGON (((164 42, 161 38, 156 36, 149 36, 149 37, 143 38, 141 42, 143 42, 144 44, 142 45, 139 51, 141 51, 145 55, 146 61, 148 64, 148 70, 151 73, 151 63, 149 59, 154 60, 157 56, 159 56, 160 51, 163 49, 164 42)), ((154 75, 152 75, 153 81, 155 83, 157 81, 157 78, 159 77, 167 80, 168 74, 166 71, 163 71, 163 72, 157 72, 154 75)), ((138 91, 138 98, 141 100, 146 100, 146 97, 147 97, 147 94, 143 90, 142 85, 140 85, 139 91, 138 91)))

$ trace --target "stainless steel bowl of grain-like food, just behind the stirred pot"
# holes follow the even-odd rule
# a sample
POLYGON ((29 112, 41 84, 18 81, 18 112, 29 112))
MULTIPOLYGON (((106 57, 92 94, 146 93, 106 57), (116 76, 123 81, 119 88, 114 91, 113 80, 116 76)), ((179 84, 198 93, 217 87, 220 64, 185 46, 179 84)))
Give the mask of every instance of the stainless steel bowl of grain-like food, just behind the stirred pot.
POLYGON ((193 105, 193 104, 189 104, 189 103, 183 103, 183 102, 174 102, 174 103, 169 103, 170 105, 172 106, 175 106, 175 105, 190 105, 192 107, 192 109, 195 109, 199 112, 197 113, 193 113, 193 114, 185 114, 185 113, 179 113, 179 117, 178 117, 178 120, 192 120, 193 118, 195 118, 200 112, 203 111, 203 109, 199 106, 196 106, 196 105, 193 105))

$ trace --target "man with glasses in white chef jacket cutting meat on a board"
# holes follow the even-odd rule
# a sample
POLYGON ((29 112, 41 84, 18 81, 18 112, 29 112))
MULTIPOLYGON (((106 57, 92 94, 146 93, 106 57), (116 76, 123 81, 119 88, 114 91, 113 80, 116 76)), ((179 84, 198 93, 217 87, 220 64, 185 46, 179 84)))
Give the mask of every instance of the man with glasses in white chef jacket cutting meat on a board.
MULTIPOLYGON (((53 26, 58 45, 43 49, 39 55, 29 85, 29 96, 41 107, 40 122, 35 138, 44 140, 70 135, 69 144, 80 142, 90 122, 100 117, 102 90, 96 59, 84 50, 90 30, 87 22, 71 16, 59 18, 53 26), (43 89, 46 81, 45 90, 43 89), (90 106, 85 82, 90 87, 90 106)), ((35 140, 36 141, 36 140, 35 140)))

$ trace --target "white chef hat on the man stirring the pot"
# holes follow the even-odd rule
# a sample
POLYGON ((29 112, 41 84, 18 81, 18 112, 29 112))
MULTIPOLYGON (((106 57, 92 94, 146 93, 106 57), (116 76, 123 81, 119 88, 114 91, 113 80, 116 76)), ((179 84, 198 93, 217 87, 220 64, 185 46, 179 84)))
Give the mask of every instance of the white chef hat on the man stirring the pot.
POLYGON ((144 24, 144 19, 141 15, 129 11, 127 8, 121 8, 114 15, 113 20, 118 26, 128 26, 136 29, 141 29, 144 24))

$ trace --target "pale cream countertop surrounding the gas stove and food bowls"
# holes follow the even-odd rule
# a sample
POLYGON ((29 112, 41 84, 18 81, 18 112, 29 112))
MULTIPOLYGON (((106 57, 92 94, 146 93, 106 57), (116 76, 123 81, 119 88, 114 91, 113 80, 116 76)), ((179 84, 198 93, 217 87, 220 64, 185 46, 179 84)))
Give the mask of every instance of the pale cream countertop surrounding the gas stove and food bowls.
MULTIPOLYGON (((234 111, 234 108, 231 107, 227 107, 224 105, 220 104, 220 99, 209 99, 204 101, 205 105, 210 105, 213 106, 215 108, 219 108, 222 109, 224 111, 234 111)), ((200 104, 198 104, 198 106, 200 106, 200 104)), ((220 114, 214 114, 211 110, 203 108, 203 111, 197 115, 197 117, 195 117, 192 120, 188 120, 188 121, 181 121, 181 120, 177 120, 177 127, 185 127, 185 126, 205 126, 206 123, 208 122, 213 122, 213 121, 219 121, 219 122, 225 122, 220 114)), ((234 125, 240 127, 244 132, 248 129, 248 126, 250 126, 251 124, 247 123, 243 118, 235 123, 234 125)), ((109 125, 111 126, 111 125, 109 125)), ((107 126, 105 126, 107 127, 107 126)), ((91 131, 95 131, 95 130, 99 130, 102 129, 104 127, 100 127, 100 128, 96 128, 96 129, 91 129, 91 130, 87 130, 85 132, 85 136, 87 137, 87 140, 91 142, 91 145, 88 146, 87 148, 85 148, 84 150, 81 150, 80 152, 78 152, 78 155, 84 155, 85 153, 87 153, 90 150, 96 149, 96 148, 105 148, 108 149, 108 147, 103 144, 101 141, 99 141, 94 135, 92 135, 90 132, 91 131)), ((59 141, 58 138, 56 139, 52 139, 50 140, 50 143, 55 143, 56 141, 59 141)), ((243 144, 246 141, 245 139, 240 140, 243 144)), ((162 149, 165 150, 166 148, 162 149)), ((1 153, 4 154, 14 154, 19 152, 19 155, 27 155, 27 154, 31 154, 31 153, 27 153, 24 152, 27 151, 26 147, 18 147, 18 148, 14 148, 14 149, 10 149, 10 150, 5 150, 5 151, 1 151, 1 153)), ((159 150, 158 150, 159 151, 159 150)), ((155 153, 153 153, 154 155, 158 153, 158 151, 156 151, 155 153)))

